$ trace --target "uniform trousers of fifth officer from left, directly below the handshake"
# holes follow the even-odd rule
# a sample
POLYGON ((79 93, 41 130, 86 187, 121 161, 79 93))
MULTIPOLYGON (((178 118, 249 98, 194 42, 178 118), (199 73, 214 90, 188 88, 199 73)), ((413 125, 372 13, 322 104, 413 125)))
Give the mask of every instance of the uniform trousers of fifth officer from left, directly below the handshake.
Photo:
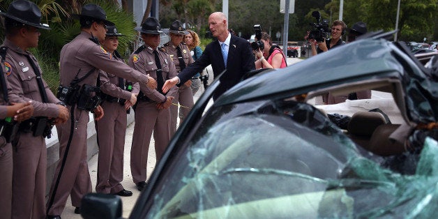
POLYGON ((146 181, 152 131, 157 163, 170 142, 170 111, 168 108, 157 110, 156 104, 155 102, 139 101, 135 108, 135 126, 130 157, 134 183, 146 181))

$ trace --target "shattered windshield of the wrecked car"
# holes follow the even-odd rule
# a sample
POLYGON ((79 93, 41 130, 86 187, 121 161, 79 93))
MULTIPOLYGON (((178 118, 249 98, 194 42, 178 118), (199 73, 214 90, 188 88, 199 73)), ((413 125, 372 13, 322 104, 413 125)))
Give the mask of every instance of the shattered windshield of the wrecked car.
POLYGON ((259 101, 210 110, 153 194, 150 218, 431 218, 437 142, 414 175, 358 152, 319 110, 259 101))

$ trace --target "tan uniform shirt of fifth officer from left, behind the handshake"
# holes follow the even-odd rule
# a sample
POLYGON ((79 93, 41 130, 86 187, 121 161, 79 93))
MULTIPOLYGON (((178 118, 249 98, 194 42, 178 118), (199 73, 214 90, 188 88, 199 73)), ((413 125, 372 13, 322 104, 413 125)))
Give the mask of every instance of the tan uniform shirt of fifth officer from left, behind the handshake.
MULTIPOLYGON (((176 76, 176 68, 174 62, 172 59, 170 59, 169 54, 160 49, 157 51, 161 63, 161 76, 163 77, 163 82, 165 82, 166 80, 176 76)), ((139 52, 139 54, 131 54, 128 60, 128 65, 132 66, 136 70, 139 70, 144 75, 149 74, 149 76, 153 77, 158 84, 157 65, 152 47, 147 46, 144 48, 144 50, 142 50, 142 52, 139 52)), ((157 89, 162 89, 162 87, 157 87, 157 89)), ((145 96, 157 103, 163 103, 166 98, 163 96, 163 94, 158 92, 157 89, 149 89, 149 87, 144 86, 144 84, 140 84, 140 90, 145 96)), ((178 91, 178 88, 174 86, 169 90, 169 92, 167 92, 166 96, 174 96, 176 91, 178 91)))

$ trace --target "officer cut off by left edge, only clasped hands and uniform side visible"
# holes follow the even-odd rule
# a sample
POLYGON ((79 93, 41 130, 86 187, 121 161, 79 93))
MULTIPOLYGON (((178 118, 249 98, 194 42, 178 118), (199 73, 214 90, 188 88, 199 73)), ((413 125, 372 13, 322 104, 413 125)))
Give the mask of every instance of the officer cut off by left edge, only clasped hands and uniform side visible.
MULTIPOLYGON (((0 54, 1 51, 3 49, 0 49, 0 54)), ((5 73, 10 73, 10 68, 3 68, 4 56, 6 52, 0 56, 0 212, 1 217, 11 218, 13 149, 10 141, 16 135, 17 121, 29 119, 33 114, 33 106, 8 89, 5 73)))

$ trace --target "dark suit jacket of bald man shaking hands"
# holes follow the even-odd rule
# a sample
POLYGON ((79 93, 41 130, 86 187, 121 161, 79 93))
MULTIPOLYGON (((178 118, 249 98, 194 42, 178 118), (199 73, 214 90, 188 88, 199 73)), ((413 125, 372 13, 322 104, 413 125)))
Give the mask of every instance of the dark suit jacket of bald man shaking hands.
MULTIPOLYGON (((239 83, 245 73, 255 70, 254 61, 254 54, 252 54, 250 43, 243 38, 232 35, 231 40, 229 40, 227 72, 220 78, 220 86, 213 94, 213 99, 216 100, 222 93, 225 93, 225 91, 239 83)), ((213 68, 215 78, 225 70, 218 40, 209 43, 201 57, 178 74, 180 83, 177 86, 190 80, 193 75, 201 72, 209 64, 213 68)))

